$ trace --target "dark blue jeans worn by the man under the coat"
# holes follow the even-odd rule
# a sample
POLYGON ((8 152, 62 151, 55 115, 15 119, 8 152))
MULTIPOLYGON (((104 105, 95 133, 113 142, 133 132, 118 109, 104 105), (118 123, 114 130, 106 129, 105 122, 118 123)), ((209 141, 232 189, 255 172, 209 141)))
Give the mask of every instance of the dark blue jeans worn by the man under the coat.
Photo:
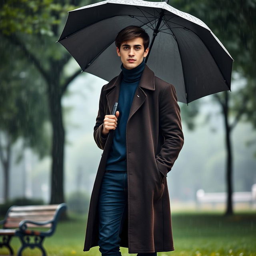
MULTIPOLYGON (((98 244, 102 256, 121 256, 120 233, 128 213, 127 196, 127 172, 107 170, 98 200, 98 244)), ((156 252, 139 253, 137 256, 156 256, 156 252)))

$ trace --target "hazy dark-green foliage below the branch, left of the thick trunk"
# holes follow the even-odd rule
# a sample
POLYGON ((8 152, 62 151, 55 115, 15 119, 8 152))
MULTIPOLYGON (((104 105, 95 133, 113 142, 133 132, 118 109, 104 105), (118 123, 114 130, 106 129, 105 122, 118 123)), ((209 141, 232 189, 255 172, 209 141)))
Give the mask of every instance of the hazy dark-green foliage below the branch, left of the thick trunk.
POLYGON ((11 143, 23 138, 24 146, 33 148, 40 157, 50 153, 47 130, 48 103, 45 84, 37 70, 18 49, 2 40, 0 63, 0 131, 11 143))

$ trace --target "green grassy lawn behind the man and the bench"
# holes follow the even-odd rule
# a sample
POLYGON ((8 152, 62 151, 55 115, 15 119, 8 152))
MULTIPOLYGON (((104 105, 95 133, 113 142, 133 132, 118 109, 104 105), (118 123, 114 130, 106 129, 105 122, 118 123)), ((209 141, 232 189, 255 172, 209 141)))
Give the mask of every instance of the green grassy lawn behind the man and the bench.
MULTIPOLYGON (((70 214, 68 222, 59 222, 55 234, 46 238, 48 256, 101 256, 98 246, 83 252, 86 216, 70 214)), ((3 219, 3 218, 1 218, 3 219)), ((239 212, 225 217, 222 213, 172 213, 173 252, 158 252, 158 256, 256 256, 256 213, 239 212)), ((15 253, 20 242, 12 239, 15 253)), ((128 248, 120 248, 122 255, 128 248)), ((7 250, 0 248, 0 254, 7 250)), ((40 256, 39 250, 27 248, 23 256, 40 256)))

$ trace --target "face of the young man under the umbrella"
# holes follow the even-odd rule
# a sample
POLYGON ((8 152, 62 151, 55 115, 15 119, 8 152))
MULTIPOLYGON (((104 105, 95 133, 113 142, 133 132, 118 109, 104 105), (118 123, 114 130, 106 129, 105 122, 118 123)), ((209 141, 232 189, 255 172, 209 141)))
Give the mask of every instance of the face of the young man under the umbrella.
POLYGON ((121 57, 121 61, 126 69, 136 68, 136 66, 140 65, 143 58, 148 55, 148 50, 149 48, 144 51, 143 39, 141 37, 122 42, 120 51, 116 47, 116 52, 121 57))

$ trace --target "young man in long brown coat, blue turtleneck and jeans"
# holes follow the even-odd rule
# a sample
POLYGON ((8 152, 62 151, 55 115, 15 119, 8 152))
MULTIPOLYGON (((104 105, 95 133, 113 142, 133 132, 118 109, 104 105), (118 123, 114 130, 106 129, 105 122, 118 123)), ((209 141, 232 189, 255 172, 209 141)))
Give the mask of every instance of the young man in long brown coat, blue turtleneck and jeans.
POLYGON ((94 140, 104 151, 84 251, 99 246, 103 256, 120 256, 120 246, 139 256, 174 250, 166 174, 184 136, 174 86, 144 62, 148 45, 148 34, 138 26, 118 33, 122 72, 100 94, 94 140), (118 111, 112 115, 115 102, 118 111))

